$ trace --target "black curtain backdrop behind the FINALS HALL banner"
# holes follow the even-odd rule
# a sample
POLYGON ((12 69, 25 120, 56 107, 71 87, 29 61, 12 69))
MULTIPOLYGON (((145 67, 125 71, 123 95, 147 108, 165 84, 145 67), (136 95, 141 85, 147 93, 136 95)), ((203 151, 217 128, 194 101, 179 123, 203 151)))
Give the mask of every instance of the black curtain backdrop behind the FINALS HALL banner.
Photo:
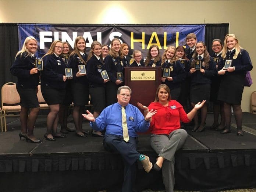
MULTIPOLYGON (((205 43, 209 53, 212 53, 211 41, 213 39, 221 39, 223 41, 225 35, 228 33, 228 26, 229 24, 206 24, 205 43)), ((18 52, 17 23, 0 23, 0 43, 0 87, 2 87, 4 83, 17 81, 17 78, 10 74, 10 67, 14 62, 16 53, 18 52)))

